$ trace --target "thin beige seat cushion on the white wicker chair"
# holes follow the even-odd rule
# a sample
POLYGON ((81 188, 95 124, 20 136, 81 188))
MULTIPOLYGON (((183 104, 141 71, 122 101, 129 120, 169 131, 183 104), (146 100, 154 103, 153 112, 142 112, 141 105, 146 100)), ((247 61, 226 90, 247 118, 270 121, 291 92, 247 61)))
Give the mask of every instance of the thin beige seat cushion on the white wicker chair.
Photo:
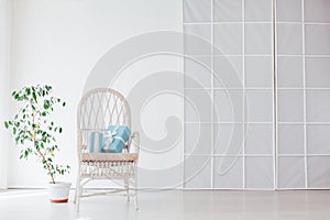
POLYGON ((138 153, 82 153, 82 162, 135 162, 138 153))

